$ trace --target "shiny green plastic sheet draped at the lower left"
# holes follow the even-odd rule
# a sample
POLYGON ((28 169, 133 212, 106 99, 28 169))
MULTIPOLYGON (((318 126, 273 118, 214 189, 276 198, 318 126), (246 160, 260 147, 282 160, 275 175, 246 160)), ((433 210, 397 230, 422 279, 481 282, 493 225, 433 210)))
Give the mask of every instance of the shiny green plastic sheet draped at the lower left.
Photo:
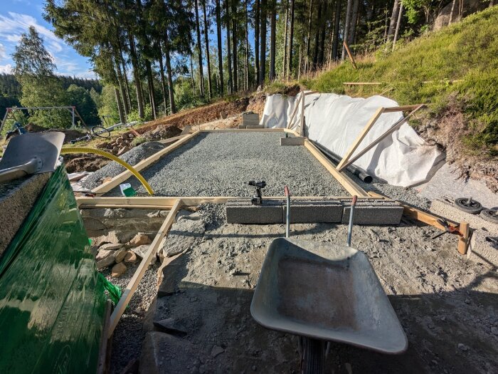
POLYGON ((95 373, 105 299, 58 167, 0 258, 0 373, 95 373))

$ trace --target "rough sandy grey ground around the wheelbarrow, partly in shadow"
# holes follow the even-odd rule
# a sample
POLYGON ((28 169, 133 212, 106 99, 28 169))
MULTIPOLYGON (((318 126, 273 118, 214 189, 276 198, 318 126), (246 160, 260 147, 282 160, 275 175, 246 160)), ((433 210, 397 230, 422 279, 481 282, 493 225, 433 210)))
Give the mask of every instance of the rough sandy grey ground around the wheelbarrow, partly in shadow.
MULTIPOLYGON (((223 205, 201 211, 201 242, 166 266, 176 293, 157 300, 155 321, 181 321, 186 336, 155 333, 142 360, 189 373, 297 373, 297 338, 268 331, 250 316, 250 301, 272 239, 283 225, 226 224, 223 205), (159 334, 159 337, 158 337, 159 334), (162 335, 161 335, 162 334, 162 335), (151 346, 152 344, 152 346, 151 346), (154 362, 155 361, 155 362, 154 362)), ((291 236, 343 243, 345 225, 295 224, 291 236)), ((414 222, 399 227, 354 227, 353 246, 364 251, 408 336, 402 355, 332 344, 326 373, 498 373, 498 283, 492 267, 456 251, 456 239, 414 222)), ((317 280, 319 281, 319 280, 317 280)))

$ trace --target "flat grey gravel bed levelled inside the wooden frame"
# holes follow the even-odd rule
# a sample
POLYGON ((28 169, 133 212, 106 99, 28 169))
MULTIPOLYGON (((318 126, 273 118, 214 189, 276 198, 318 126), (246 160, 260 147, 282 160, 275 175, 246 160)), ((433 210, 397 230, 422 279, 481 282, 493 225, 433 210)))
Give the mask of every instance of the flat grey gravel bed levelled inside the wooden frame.
MULTIPOLYGON (((280 146, 282 133, 203 133, 142 175, 159 196, 245 196, 249 180, 265 180, 263 195, 348 196, 303 146, 280 146)), ((127 182, 145 194, 134 178, 127 182)), ((119 196, 119 188, 110 196, 119 196)))

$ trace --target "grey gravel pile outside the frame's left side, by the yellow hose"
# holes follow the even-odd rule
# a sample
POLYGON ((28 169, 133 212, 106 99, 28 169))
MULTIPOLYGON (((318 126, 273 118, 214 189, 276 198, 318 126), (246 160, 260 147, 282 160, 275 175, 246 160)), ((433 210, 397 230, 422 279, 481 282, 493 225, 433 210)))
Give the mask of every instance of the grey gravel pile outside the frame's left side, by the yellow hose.
MULTIPOLYGON (((128 162, 129 165, 137 165, 138 162, 154 155, 154 153, 162 150, 166 145, 160 142, 147 142, 137 147, 132 148, 126 153, 120 156, 120 159, 124 162, 128 162)), ((88 189, 93 189, 102 184, 102 180, 106 177, 115 177, 126 170, 117 162, 110 162, 109 164, 102 167, 102 169, 94 172, 90 177, 88 177, 85 182, 82 183, 83 187, 88 189)))

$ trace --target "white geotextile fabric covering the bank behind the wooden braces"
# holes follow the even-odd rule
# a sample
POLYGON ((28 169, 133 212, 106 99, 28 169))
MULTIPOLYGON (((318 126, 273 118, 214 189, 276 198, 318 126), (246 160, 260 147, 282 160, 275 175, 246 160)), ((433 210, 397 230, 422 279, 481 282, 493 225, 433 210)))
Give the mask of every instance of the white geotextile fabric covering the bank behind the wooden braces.
MULTIPOLYGON (((287 127, 287 121, 300 95, 302 94, 296 98, 283 95, 268 96, 260 124, 265 125, 265 128, 287 127)), ((304 98, 305 135, 341 157, 379 107, 398 106, 396 101, 383 96, 364 99, 334 93, 317 93, 305 95, 304 98)), ((290 128, 299 132, 302 110, 301 103, 298 105, 290 128)), ((403 118, 401 112, 381 115, 356 148, 353 156, 401 118, 403 118)), ((437 147, 425 144, 415 130, 404 123, 401 128, 356 160, 354 165, 386 180, 390 185, 409 187, 430 179, 431 170, 442 156, 437 147)))

